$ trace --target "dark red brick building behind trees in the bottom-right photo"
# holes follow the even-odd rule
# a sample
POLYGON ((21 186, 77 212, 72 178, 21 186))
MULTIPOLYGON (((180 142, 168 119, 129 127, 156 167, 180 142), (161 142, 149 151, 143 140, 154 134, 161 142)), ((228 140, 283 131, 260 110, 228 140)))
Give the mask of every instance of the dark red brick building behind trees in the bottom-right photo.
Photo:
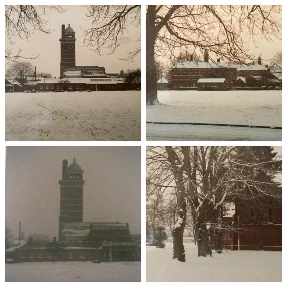
MULTIPOLYGON (((235 204, 233 216, 225 217, 230 231, 224 231, 225 248, 230 250, 282 251, 282 205, 262 202, 260 214, 252 205, 235 204)), ((214 249, 216 237, 210 236, 214 249)))

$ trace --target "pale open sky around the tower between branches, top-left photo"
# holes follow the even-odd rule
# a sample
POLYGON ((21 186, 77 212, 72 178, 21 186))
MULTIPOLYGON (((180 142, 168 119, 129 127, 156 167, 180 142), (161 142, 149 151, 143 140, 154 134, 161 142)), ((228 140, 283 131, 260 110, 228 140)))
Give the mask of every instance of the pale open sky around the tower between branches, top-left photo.
MULTIPOLYGON (((36 56, 38 53, 39 57, 37 59, 31 59, 30 61, 34 66, 37 66, 38 72, 51 73, 53 77, 60 76, 60 41, 61 38, 61 25, 65 24, 65 28, 68 24, 74 29, 76 40, 76 65, 77 66, 103 66, 106 69, 106 73, 120 73, 123 69, 136 69, 141 68, 141 55, 139 54, 134 58, 134 62, 120 60, 126 58, 126 54, 129 51, 133 51, 134 48, 141 45, 137 40, 141 33, 141 27, 134 27, 129 25, 128 37, 130 42, 127 44, 121 44, 111 55, 108 50, 102 51, 102 56, 96 54, 96 52, 89 50, 87 47, 83 47, 83 31, 81 28, 86 29, 91 27, 91 21, 87 20, 85 13, 87 8, 80 7, 78 5, 62 5, 66 10, 65 13, 59 13, 57 11, 47 10, 47 15, 43 18, 49 20, 47 28, 53 33, 47 35, 41 31, 35 31, 34 34, 27 39, 19 39, 19 37, 14 37, 13 41, 16 43, 12 46, 14 54, 16 54, 20 49, 23 49, 22 56, 31 57, 36 56), (80 28, 81 27, 81 28, 80 28)), ((7 41, 6 44, 7 45, 7 41)))

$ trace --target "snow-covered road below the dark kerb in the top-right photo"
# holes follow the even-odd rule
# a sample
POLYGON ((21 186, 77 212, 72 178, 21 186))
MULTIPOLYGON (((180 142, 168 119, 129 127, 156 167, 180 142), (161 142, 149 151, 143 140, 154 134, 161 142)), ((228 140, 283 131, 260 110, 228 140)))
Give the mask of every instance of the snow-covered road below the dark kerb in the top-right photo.
POLYGON ((282 129, 146 124, 147 141, 282 141, 282 129))

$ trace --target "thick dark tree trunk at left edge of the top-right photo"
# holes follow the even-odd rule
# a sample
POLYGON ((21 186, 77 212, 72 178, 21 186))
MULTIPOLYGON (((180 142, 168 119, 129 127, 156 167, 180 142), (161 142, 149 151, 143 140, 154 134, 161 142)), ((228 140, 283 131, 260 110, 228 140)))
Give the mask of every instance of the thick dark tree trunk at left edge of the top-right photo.
POLYGON ((155 68, 156 5, 148 5, 146 13, 146 105, 158 104, 157 72, 155 68))

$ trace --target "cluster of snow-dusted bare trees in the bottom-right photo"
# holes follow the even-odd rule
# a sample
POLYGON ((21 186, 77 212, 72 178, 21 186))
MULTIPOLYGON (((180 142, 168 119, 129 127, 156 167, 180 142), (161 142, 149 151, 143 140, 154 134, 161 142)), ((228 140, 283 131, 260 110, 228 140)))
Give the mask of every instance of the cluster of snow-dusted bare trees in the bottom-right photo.
MULTIPOLYGON (((237 146, 147 148, 147 201, 153 196, 161 201, 175 199, 177 202, 174 210, 177 222, 172 229, 173 258, 185 261, 183 233, 187 224, 194 227, 198 256, 212 255, 210 230, 219 238, 218 245, 222 248, 222 230, 233 230, 222 218, 226 202, 282 199, 278 183, 271 180, 280 172, 282 160, 276 157, 250 159, 242 156, 245 148, 251 150, 237 146), (259 170, 261 176, 254 176, 259 170), (187 216, 187 207, 191 216, 187 216)), ((158 216, 166 212, 162 209, 158 216)))

